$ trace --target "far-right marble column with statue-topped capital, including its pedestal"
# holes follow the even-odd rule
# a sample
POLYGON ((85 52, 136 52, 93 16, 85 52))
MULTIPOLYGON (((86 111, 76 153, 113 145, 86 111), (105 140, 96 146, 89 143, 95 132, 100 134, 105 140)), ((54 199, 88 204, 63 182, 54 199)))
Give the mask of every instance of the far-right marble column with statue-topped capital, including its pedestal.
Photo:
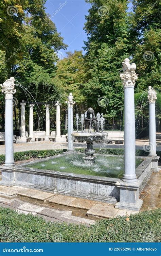
POLYGON ((156 113, 155 103, 157 100, 157 93, 155 89, 148 87, 148 102, 149 102, 149 157, 153 157, 152 169, 155 172, 159 171, 158 156, 156 154, 156 113))

